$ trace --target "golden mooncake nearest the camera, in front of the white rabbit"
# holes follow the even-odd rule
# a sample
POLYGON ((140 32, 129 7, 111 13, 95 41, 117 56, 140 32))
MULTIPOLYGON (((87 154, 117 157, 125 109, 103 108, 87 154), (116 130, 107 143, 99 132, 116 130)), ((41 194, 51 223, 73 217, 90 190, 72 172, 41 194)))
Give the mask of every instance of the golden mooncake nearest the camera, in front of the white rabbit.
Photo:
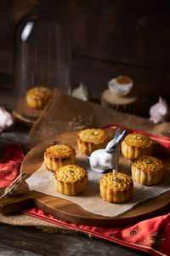
POLYGON ((101 197, 111 203, 123 203, 133 195, 133 180, 120 172, 106 173, 100 179, 101 197))

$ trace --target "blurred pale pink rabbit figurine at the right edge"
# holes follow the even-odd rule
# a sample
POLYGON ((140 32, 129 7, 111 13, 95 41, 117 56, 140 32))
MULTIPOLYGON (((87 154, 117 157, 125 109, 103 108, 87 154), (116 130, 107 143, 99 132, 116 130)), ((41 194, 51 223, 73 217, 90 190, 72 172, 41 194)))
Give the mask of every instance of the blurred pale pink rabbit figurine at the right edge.
POLYGON ((166 121, 169 114, 169 108, 167 102, 159 97, 159 102, 150 108, 150 121, 154 124, 158 124, 166 121))

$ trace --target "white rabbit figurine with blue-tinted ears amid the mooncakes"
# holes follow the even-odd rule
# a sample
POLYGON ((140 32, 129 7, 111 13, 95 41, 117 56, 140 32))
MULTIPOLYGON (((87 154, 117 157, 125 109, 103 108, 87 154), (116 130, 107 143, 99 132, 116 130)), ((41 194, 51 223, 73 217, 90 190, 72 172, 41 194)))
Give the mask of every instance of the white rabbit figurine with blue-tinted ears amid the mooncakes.
POLYGON ((121 135, 120 131, 120 128, 117 129, 114 139, 107 144, 105 149, 95 150, 90 156, 88 156, 88 160, 93 171, 100 173, 110 169, 112 172, 118 171, 119 146, 126 136, 126 131, 123 131, 121 135))

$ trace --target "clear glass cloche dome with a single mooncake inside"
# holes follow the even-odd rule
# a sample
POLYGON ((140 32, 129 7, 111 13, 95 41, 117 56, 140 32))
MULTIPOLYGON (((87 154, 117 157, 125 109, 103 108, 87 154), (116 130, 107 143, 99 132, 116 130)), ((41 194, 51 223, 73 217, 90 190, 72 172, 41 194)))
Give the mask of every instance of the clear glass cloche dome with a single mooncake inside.
POLYGON ((64 16, 36 11, 20 20, 14 53, 14 117, 31 124, 54 88, 71 92, 71 40, 64 16))

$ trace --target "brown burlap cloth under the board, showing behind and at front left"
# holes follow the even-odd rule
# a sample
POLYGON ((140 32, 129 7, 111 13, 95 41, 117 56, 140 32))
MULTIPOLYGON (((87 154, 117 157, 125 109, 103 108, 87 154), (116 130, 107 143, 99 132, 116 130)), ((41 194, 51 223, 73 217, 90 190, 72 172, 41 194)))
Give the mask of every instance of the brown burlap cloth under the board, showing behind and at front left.
MULTIPOLYGON (((105 109, 93 102, 82 102, 55 90, 53 98, 31 128, 27 143, 35 145, 65 131, 79 130, 86 126, 102 127, 111 124, 127 126, 156 136, 170 137, 170 123, 154 125, 148 119, 105 109)), ((43 230, 56 232, 69 231, 57 224, 22 213, 13 213, 7 216, 0 214, 0 222, 36 226, 43 230)))

